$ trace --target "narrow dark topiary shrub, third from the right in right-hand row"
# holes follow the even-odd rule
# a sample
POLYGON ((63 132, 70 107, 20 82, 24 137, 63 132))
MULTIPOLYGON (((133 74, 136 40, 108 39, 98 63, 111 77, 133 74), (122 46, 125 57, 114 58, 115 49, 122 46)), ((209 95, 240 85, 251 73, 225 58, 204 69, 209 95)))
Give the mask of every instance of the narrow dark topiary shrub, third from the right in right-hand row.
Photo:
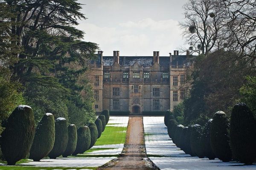
POLYGON ((210 130, 212 126, 212 119, 209 119, 209 121, 205 124, 203 135, 201 137, 201 147, 204 149, 204 155, 212 160, 215 159, 215 155, 212 152, 211 147, 211 138, 210 138, 210 130))

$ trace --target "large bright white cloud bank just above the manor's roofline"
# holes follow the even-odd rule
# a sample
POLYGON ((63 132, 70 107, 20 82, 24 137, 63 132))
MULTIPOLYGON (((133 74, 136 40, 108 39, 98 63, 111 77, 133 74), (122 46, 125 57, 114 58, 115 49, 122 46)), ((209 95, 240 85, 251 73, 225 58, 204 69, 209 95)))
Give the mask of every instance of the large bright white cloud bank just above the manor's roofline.
POLYGON ((99 27, 91 23, 78 26, 86 34, 85 41, 96 42, 104 55, 112 55, 119 50, 120 55, 152 55, 152 51, 160 51, 161 56, 184 46, 176 20, 155 21, 146 18, 138 22, 125 22, 112 27, 99 27))

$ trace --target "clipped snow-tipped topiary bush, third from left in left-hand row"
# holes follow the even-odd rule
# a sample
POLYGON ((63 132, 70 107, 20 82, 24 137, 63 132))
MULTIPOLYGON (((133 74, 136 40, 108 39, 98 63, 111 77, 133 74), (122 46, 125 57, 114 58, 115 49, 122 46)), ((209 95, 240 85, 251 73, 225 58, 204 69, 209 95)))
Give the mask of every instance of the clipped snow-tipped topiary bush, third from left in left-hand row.
POLYGON ((56 159, 61 156, 67 148, 67 142, 67 120, 59 117, 55 120, 55 142, 51 152, 48 154, 49 158, 56 159))

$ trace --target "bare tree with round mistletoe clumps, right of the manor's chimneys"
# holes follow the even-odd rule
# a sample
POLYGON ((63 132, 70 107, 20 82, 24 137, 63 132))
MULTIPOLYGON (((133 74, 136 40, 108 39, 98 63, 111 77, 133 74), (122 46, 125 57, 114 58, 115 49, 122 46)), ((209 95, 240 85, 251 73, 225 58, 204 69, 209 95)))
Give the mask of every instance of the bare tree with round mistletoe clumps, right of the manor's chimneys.
POLYGON ((221 0, 189 0, 184 6, 183 37, 190 44, 189 50, 208 54, 221 48, 226 31, 223 20, 227 17, 221 0))

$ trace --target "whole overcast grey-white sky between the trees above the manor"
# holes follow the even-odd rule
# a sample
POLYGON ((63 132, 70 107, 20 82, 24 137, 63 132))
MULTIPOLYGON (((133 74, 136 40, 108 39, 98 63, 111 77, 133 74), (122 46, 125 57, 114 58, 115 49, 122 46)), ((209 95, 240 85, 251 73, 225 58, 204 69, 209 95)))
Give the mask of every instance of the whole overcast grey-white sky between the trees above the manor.
MULTIPOLYGON (((99 44, 104 56, 160 56, 185 47, 178 23, 187 0, 79 0, 87 20, 77 28, 85 41, 99 44)), ((186 45, 187 46, 187 45, 186 45)))

